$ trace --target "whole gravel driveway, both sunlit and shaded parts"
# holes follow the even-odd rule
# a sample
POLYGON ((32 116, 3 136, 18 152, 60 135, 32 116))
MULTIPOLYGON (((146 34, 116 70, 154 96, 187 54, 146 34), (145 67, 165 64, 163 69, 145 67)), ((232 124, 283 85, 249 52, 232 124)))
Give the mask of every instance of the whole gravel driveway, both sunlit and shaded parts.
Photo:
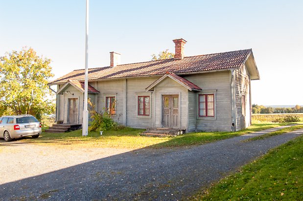
POLYGON ((303 134, 242 142, 275 130, 174 149, 65 150, 0 141, 0 200, 180 200, 303 134))

